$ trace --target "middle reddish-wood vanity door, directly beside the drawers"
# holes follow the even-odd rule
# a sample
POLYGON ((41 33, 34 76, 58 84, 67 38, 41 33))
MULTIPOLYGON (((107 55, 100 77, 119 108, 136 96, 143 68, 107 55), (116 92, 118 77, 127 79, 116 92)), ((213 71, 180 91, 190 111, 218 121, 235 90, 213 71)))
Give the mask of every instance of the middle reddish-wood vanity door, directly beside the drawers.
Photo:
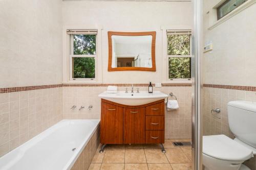
POLYGON ((123 142, 145 143, 145 108, 124 109, 123 142))

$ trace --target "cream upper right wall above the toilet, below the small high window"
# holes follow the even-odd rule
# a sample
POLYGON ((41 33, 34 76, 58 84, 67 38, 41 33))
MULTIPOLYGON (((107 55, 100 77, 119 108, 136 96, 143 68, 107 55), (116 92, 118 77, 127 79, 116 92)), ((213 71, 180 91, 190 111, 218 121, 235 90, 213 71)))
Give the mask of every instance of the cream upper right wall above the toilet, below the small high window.
POLYGON ((208 30, 219 2, 204 1, 204 42, 214 48, 203 56, 204 83, 256 86, 256 4, 208 30))

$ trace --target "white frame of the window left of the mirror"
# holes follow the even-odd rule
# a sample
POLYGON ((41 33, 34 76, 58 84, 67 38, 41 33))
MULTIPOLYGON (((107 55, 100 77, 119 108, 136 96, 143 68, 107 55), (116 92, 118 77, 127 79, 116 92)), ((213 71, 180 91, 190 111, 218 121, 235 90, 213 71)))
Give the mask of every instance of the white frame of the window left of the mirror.
POLYGON ((62 72, 63 84, 82 84, 82 83, 102 83, 102 59, 101 59, 101 30, 98 26, 65 26, 63 28, 63 50, 62 50, 62 72), (91 28, 91 29, 84 29, 91 28), (71 32, 71 33, 70 33, 71 32), (97 32, 97 33, 95 33, 97 32), (74 55, 74 35, 95 35, 96 34, 96 54, 95 55, 74 55), (75 57, 94 57, 95 58, 95 78, 73 78, 73 61, 75 57))

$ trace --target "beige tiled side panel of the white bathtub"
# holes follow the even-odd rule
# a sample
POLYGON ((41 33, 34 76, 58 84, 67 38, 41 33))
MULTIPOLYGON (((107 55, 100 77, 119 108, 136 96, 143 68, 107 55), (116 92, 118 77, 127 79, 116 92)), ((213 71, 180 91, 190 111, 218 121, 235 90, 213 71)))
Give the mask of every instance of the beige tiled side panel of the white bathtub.
POLYGON ((91 137, 90 141, 87 143, 86 147, 83 149, 82 153, 77 158, 71 170, 84 170, 88 169, 93 156, 99 145, 99 127, 91 137))

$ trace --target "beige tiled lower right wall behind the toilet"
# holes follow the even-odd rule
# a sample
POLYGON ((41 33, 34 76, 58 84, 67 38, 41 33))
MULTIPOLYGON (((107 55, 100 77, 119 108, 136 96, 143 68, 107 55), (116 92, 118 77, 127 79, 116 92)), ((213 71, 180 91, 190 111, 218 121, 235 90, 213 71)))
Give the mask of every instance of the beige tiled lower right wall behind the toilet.
POLYGON ((203 135, 225 134, 233 138, 228 128, 227 103, 234 100, 256 102, 255 91, 221 88, 203 88, 203 135), (220 119, 213 116, 211 109, 220 108, 220 119))

